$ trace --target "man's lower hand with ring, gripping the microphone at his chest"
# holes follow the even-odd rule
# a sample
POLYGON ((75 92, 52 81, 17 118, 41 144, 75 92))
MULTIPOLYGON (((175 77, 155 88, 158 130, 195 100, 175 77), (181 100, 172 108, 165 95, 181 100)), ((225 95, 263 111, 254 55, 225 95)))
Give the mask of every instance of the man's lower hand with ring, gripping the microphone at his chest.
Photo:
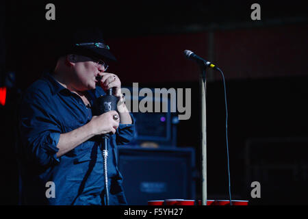
POLYGON ((114 115, 118 116, 118 113, 114 110, 105 112, 99 116, 93 116, 88 125, 90 125, 92 133, 97 135, 102 135, 112 132, 116 133, 116 129, 120 123, 118 116, 117 120, 114 120, 114 115))

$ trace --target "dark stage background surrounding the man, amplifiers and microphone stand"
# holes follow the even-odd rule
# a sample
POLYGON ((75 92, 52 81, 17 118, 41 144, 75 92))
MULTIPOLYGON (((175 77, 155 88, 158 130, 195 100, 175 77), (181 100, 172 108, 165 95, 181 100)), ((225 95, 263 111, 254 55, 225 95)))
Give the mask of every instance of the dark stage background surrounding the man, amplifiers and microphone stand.
MULTIPOLYGON (((218 64, 227 83, 233 198, 251 205, 308 204, 305 1, 2 1, 0 10, 1 87, 10 72, 16 75, 0 109, 1 204, 18 203, 18 96, 49 67, 54 39, 79 25, 105 32, 119 61, 110 71, 123 86, 192 88, 192 116, 177 126, 177 147, 196 150, 199 177, 199 70, 183 50, 218 64), (55 21, 45 19, 47 3, 55 4, 55 21), (261 21, 251 20, 253 3, 261 5, 261 21), (253 181, 261 183, 261 198, 251 198, 253 181)), ((208 69, 209 199, 228 198, 223 89, 220 73, 208 69)))

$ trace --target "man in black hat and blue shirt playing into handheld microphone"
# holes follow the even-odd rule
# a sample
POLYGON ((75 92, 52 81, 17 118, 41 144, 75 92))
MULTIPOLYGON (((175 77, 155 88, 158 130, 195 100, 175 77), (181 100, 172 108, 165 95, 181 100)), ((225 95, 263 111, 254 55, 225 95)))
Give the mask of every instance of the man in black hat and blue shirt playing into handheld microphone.
POLYGON ((116 58, 97 30, 75 31, 65 44, 54 73, 34 82, 21 103, 23 204, 105 205, 101 141, 95 137, 110 133, 109 204, 125 205, 116 146, 133 138, 134 122, 120 79, 106 71, 116 58), (94 116, 95 100, 110 88, 118 112, 94 116))

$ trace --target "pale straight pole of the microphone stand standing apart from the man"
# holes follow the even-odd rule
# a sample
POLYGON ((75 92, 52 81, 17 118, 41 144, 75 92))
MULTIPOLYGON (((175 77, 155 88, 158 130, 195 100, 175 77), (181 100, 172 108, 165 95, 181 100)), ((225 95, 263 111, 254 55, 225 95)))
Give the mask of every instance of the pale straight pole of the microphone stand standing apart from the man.
POLYGON ((202 205, 207 205, 207 133, 206 133, 206 78, 205 65, 200 65, 201 93, 201 170, 202 170, 202 205))

